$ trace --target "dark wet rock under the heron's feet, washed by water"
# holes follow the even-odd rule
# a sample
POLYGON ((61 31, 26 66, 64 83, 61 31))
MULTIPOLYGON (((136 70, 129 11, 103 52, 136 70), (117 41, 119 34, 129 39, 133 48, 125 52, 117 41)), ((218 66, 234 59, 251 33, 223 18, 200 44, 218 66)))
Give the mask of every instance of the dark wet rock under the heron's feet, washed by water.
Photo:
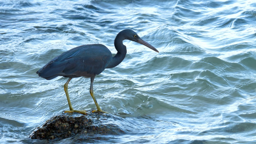
POLYGON ((47 120, 30 134, 32 139, 63 139, 77 135, 122 134, 119 126, 108 123, 110 114, 87 115, 79 113, 63 113, 47 120))

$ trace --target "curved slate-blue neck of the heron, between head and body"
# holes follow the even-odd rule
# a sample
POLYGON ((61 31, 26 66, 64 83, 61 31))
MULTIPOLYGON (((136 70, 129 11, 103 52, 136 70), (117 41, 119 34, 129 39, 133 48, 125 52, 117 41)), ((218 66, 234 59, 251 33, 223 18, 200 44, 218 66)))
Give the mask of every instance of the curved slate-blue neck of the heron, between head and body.
POLYGON ((127 51, 126 51, 126 47, 122 44, 122 41, 124 39, 125 38, 122 36, 118 36, 118 35, 116 36, 114 44, 115 44, 117 53, 114 57, 112 57, 107 68, 113 68, 113 67, 119 65, 122 62, 122 60, 125 58, 127 51))

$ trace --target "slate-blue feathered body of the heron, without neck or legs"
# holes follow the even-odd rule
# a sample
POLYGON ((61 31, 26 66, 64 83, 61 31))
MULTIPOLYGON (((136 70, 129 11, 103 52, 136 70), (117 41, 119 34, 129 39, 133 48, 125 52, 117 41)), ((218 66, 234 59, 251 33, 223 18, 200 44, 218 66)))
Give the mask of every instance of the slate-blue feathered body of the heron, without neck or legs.
POLYGON ((92 77, 103 72, 111 59, 112 54, 104 45, 83 45, 72 48, 50 60, 37 73, 47 80, 57 76, 92 77))

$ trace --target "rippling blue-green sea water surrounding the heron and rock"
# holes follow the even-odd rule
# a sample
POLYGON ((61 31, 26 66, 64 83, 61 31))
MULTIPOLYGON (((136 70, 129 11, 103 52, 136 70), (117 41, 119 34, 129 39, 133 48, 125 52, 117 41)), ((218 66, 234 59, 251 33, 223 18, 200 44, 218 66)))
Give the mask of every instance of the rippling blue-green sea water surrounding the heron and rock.
MULTIPOLYGON (((92 110, 90 80, 69 84, 92 110)), ((255 0, 0 0, 1 144, 256 144, 255 0), (125 133, 31 140, 68 110, 67 78, 36 74, 62 52, 133 29, 159 50, 125 40, 126 58, 94 82, 103 120, 125 133)))

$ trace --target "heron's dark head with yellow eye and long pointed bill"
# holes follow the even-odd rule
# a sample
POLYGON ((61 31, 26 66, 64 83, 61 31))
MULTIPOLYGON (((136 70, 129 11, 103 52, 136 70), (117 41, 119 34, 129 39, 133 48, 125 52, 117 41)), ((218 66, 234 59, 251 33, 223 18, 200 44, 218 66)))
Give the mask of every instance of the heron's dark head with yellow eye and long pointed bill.
POLYGON ((133 30, 131 29, 125 29, 122 30, 120 33, 120 35, 124 36, 124 39, 128 39, 134 42, 137 42, 139 44, 142 44, 144 46, 146 46, 147 48, 150 48, 156 52, 159 52, 157 50, 157 48, 154 48, 153 46, 151 46, 149 43, 147 43, 145 40, 141 39, 140 36, 138 36, 138 34, 136 34, 133 30))

